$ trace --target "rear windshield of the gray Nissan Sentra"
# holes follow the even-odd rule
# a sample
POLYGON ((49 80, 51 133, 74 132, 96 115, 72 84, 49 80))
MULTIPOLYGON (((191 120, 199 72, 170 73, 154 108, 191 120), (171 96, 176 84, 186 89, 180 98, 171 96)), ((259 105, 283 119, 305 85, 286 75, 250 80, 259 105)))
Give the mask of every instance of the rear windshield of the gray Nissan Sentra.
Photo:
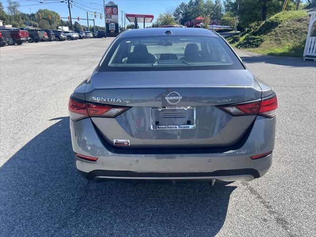
POLYGON ((244 69, 220 37, 156 36, 118 39, 98 71, 244 69))

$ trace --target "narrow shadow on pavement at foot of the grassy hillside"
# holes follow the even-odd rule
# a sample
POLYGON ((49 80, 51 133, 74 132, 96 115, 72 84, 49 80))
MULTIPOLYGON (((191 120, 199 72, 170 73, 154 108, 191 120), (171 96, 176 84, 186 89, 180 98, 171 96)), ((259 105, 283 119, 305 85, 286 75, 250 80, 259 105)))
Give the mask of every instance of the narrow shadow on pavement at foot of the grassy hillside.
POLYGON ((244 53, 237 53, 244 63, 268 63, 289 67, 316 67, 316 63, 314 61, 304 61, 302 58, 260 55, 252 53, 249 53, 247 56, 243 56, 242 54, 244 53))

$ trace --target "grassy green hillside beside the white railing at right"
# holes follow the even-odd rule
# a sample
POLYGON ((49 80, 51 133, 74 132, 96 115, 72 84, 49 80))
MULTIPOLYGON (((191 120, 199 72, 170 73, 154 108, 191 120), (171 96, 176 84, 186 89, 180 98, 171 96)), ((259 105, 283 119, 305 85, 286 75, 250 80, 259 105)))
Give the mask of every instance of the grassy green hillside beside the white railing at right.
POLYGON ((283 11, 228 40, 251 52, 301 57, 309 20, 306 10, 283 11))

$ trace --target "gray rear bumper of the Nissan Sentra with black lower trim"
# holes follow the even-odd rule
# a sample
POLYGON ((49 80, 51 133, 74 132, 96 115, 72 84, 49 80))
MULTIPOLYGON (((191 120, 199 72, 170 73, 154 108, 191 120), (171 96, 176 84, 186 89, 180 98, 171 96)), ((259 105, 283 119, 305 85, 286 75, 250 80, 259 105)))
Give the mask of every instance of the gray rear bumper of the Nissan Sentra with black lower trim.
POLYGON ((237 150, 222 153, 161 152, 114 153, 103 143, 90 118, 70 121, 75 153, 97 157, 95 162, 75 156, 75 164, 88 179, 145 179, 145 180, 211 180, 251 181, 263 176, 272 164, 272 154, 263 158, 250 156, 274 149, 276 118, 255 119, 245 143, 237 150))

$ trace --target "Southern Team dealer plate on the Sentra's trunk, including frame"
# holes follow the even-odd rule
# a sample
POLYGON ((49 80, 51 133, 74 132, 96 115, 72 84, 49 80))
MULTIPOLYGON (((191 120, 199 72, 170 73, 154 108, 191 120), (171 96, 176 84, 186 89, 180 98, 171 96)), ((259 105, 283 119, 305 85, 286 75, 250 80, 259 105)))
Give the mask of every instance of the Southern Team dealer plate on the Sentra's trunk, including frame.
POLYGON ((151 128, 153 130, 195 129, 195 107, 155 107, 151 108, 151 128))

